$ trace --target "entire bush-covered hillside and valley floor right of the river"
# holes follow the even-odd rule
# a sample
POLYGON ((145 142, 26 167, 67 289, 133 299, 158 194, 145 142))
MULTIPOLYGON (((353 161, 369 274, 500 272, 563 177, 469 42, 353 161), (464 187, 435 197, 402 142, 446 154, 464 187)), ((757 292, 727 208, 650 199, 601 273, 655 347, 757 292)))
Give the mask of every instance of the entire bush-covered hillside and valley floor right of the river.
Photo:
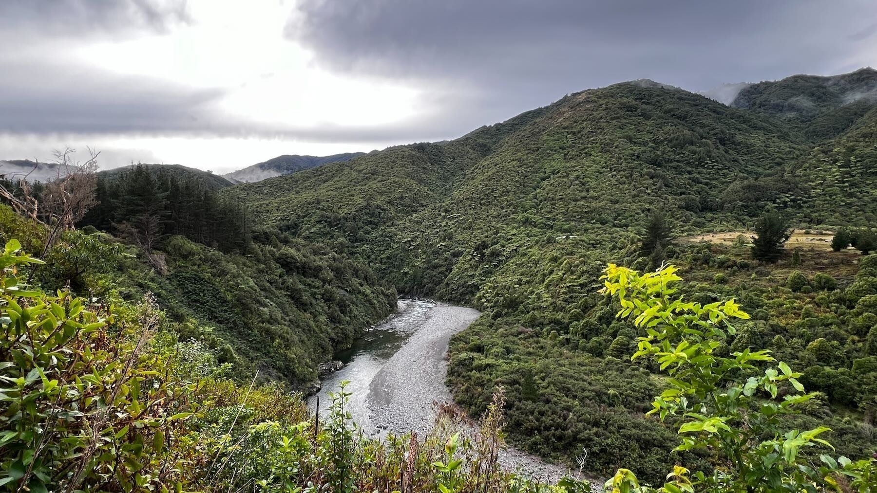
POLYGON ((862 297, 877 284, 857 274, 858 253, 809 248, 796 260, 787 252, 779 264, 754 261, 746 231, 769 210, 811 232, 877 226, 877 112, 848 90, 870 87, 872 77, 866 69, 764 83, 740 95, 751 103, 731 107, 625 82, 452 141, 396 146, 220 195, 246 204, 258 222, 368 264, 399 292, 484 311, 454 338, 448 381, 473 416, 503 384, 519 447, 559 460, 586 447, 589 470, 633 468, 652 482, 674 463, 702 466, 699 454, 668 458, 675 434, 643 418, 666 384, 653 365, 630 363, 638 333, 596 292, 607 262, 651 270, 667 260, 695 279, 687 296, 736 297, 757 313, 728 343, 770 348, 808 370, 824 400, 795 424, 827 424, 843 454, 864 457, 877 436, 868 432, 877 372, 862 363, 877 356, 877 308, 862 297), (825 88, 833 99, 813 113, 774 110, 825 88), (733 246, 645 249, 656 215, 675 236, 741 234, 733 246))

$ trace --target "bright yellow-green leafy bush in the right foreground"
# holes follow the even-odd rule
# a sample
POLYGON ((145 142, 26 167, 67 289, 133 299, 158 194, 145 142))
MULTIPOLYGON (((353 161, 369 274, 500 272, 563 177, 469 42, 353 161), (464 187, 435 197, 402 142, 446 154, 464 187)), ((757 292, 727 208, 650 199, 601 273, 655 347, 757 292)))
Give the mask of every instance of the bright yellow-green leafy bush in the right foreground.
MULTIPOLYGON (((677 466, 664 490, 694 491, 860 491, 877 488, 877 463, 804 458, 809 447, 831 447, 819 438, 831 431, 788 429, 788 418, 816 398, 804 393, 800 373, 775 360, 767 350, 745 349, 724 356, 720 350, 736 333, 731 321, 749 314, 733 300, 708 305, 674 296, 681 281, 676 268, 640 274, 614 264, 606 269, 605 287, 617 296, 617 316, 633 320, 645 332, 632 359, 652 357, 667 370, 669 387, 655 398, 652 411, 674 419, 681 439, 676 450, 702 449, 713 454, 716 468, 691 473, 677 466), (750 377, 741 378, 740 376, 750 377), (780 389, 784 396, 780 398, 780 389), (790 387, 790 388, 789 388, 790 387)), ((622 469, 606 483, 619 491, 643 491, 637 478, 622 469)))

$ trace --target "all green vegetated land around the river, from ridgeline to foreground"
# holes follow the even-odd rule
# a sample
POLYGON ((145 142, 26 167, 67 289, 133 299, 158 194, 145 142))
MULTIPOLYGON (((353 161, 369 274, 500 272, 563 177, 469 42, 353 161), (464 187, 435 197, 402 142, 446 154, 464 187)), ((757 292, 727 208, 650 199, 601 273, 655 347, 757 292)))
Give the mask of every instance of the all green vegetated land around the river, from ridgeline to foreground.
POLYGON ((0 488, 590 490, 501 472, 504 425, 613 491, 871 491, 875 79, 731 106, 624 82, 231 187, 133 166, 77 228, 0 204, 0 488), (481 310, 449 345, 462 411, 371 440, 342 392, 311 421, 289 391, 397 294, 481 310))

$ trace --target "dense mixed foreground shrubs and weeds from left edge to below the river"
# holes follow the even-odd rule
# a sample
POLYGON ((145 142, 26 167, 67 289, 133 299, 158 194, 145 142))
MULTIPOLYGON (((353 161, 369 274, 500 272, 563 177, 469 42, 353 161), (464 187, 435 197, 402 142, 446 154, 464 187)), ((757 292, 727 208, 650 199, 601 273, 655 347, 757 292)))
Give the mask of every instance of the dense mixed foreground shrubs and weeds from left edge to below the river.
POLYGON ((363 436, 342 386, 314 423, 300 395, 241 385, 199 342, 179 342, 163 313, 95 305, 26 285, 41 264, 15 240, 0 254, 0 490, 428 491, 583 493, 500 470, 503 393, 476 430, 453 406, 435 431, 363 436))

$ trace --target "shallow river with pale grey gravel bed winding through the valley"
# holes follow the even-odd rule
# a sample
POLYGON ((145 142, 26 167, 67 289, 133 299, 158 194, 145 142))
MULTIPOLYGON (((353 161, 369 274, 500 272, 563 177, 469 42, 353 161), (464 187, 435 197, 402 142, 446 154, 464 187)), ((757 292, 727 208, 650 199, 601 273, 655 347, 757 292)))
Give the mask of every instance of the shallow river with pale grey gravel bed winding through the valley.
MULTIPOLYGON (((328 393, 347 380, 347 391, 353 392, 348 410, 367 435, 428 432, 435 419, 432 403, 452 401, 445 384, 448 341, 480 314, 462 306, 400 299, 396 314, 337 355, 344 368, 323 377, 322 390, 308 405, 316 408, 318 398, 320 415, 325 415, 328 393)), ((571 474, 513 447, 503 450, 500 462, 507 470, 546 482, 571 474)), ((593 483, 599 491, 601 483, 593 483)))

